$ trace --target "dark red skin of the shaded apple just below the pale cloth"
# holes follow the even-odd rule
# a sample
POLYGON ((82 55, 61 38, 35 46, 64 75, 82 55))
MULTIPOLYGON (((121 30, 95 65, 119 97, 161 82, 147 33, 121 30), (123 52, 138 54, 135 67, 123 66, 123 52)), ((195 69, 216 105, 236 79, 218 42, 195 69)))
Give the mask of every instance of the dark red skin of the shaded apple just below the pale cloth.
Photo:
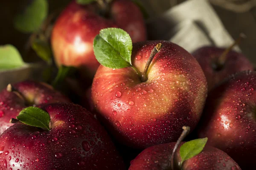
POLYGON ((253 70, 253 64, 243 54, 236 51, 230 51, 227 54, 226 62, 221 70, 216 71, 212 65, 214 61, 221 57, 221 54, 226 48, 218 47, 202 47, 194 51, 192 55, 198 60, 201 65, 204 75, 208 83, 208 91, 211 91, 218 83, 223 81, 231 74, 239 71, 253 70))

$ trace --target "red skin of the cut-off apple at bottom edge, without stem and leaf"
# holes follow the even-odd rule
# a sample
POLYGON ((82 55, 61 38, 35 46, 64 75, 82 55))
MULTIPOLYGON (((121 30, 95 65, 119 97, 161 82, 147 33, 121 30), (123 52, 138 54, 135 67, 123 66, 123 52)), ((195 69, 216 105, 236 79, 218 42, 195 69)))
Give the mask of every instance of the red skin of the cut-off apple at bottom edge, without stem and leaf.
MULTIPOLYGON (((215 147, 205 146, 198 155, 183 162, 181 161, 180 146, 175 156, 175 170, 241 170, 239 165, 227 153, 215 147)), ((176 142, 159 144, 143 150, 133 161, 129 170, 171 170, 172 150, 176 142)))

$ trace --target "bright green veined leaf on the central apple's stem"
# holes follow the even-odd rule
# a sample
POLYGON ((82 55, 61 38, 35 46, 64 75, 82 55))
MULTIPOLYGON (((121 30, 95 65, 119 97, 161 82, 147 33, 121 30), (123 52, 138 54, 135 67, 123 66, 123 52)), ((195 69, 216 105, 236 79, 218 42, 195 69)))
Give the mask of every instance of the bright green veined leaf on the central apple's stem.
POLYGON ((99 63, 106 67, 131 66, 131 37, 120 28, 102 29, 94 38, 93 51, 99 63))

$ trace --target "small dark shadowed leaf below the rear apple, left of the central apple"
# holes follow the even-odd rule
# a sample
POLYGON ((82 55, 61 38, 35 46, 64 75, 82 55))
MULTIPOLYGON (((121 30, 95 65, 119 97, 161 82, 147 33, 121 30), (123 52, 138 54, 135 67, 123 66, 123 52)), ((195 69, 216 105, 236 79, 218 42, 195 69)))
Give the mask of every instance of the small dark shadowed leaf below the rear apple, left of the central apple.
POLYGON ((68 66, 61 65, 61 67, 58 69, 57 76, 55 77, 55 79, 52 82, 53 88, 56 88, 56 86, 58 84, 61 84, 61 82, 64 81, 65 77, 67 77, 67 75, 71 74, 71 72, 73 72, 74 70, 75 70, 74 67, 68 67, 68 66))

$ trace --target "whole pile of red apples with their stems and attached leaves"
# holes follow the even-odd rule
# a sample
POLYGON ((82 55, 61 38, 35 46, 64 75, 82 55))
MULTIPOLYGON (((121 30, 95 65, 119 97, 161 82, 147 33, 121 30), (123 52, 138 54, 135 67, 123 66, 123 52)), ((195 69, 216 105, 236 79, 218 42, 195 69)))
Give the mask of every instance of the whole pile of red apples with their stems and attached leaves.
POLYGON ((0 92, 0 170, 254 169, 253 64, 233 45, 190 54, 146 41, 131 0, 107 3, 73 1, 52 30, 56 64, 94 76, 88 111, 43 82, 8 85, 0 92))

